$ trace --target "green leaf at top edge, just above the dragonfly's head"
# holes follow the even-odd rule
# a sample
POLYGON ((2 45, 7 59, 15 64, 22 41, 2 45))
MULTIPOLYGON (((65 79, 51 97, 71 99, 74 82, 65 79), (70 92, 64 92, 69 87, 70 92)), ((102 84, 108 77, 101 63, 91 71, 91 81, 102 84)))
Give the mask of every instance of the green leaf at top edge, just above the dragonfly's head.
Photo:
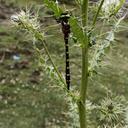
POLYGON ((54 12, 56 17, 59 17, 63 12, 62 9, 54 1, 44 0, 45 5, 54 12))

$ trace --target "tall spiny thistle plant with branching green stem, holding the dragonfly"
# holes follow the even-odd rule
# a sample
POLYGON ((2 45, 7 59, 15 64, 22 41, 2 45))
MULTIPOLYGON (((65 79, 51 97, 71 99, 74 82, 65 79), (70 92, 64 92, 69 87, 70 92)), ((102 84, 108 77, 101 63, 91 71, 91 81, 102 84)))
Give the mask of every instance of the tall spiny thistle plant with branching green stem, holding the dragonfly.
MULTIPOLYGON (((70 97, 73 103, 77 105, 80 128, 88 127, 86 101, 89 78, 94 73, 97 73, 96 69, 97 67, 101 66, 100 62, 102 61, 103 56, 106 54, 106 49, 108 49, 111 43, 115 40, 115 33, 118 32, 119 28, 121 27, 120 23, 125 16, 117 18, 116 15, 120 11, 124 2, 124 0, 117 0, 117 2, 108 3, 107 0, 101 0, 97 3, 98 8, 96 13, 93 15, 94 18, 90 20, 91 14, 89 15, 89 0, 76 0, 76 3, 81 9, 81 16, 71 16, 69 18, 68 25, 70 25, 71 33, 73 37, 76 38, 82 53, 81 84, 80 90, 77 91, 79 93, 75 93, 72 91, 72 89, 67 89, 67 83, 53 62, 47 49, 47 35, 40 31, 38 17, 35 15, 30 15, 29 11, 21 11, 19 14, 11 17, 11 20, 16 24, 16 26, 19 26, 21 29, 26 30, 32 35, 34 41, 37 40, 43 43, 43 49, 45 50, 46 57, 42 55, 41 50, 39 50, 34 43, 33 47, 35 52, 42 66, 46 69, 46 72, 48 72, 50 77, 56 81, 58 87, 65 91, 66 96, 70 97), (99 22, 101 24, 101 30, 97 31, 99 22), (106 29, 105 25, 109 27, 109 29, 106 29), (93 38, 96 39, 96 43, 92 43, 93 38), (51 62, 50 65, 47 63, 47 60, 51 62)), ((65 12, 65 10, 58 5, 58 1, 54 2, 44 0, 44 4, 54 12, 54 17, 56 17, 56 19, 60 18, 65 12)), ((64 25, 66 23, 67 21, 64 21, 64 25)), ((105 102, 103 101, 102 103, 105 102)), ((107 118, 108 115, 105 116, 106 117, 104 118, 107 118)))

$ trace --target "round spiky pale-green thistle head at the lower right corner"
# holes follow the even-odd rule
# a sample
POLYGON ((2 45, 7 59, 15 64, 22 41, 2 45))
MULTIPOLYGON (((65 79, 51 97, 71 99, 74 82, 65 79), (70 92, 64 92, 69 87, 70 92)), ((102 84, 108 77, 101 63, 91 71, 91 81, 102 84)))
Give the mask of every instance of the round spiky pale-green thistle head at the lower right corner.
POLYGON ((100 112, 99 127, 127 127, 125 116, 128 108, 127 101, 123 96, 121 97, 109 94, 101 101, 100 106, 97 108, 100 112))

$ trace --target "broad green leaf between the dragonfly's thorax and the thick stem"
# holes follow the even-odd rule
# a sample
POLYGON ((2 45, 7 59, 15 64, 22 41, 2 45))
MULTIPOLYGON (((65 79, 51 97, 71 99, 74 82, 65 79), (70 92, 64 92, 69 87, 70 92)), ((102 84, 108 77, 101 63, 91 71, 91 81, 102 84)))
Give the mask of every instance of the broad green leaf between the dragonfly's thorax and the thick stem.
POLYGON ((71 31, 73 36, 78 40, 78 42, 83 45, 86 41, 86 35, 82 27, 79 25, 77 18, 71 17, 69 19, 69 23, 71 25, 71 31))

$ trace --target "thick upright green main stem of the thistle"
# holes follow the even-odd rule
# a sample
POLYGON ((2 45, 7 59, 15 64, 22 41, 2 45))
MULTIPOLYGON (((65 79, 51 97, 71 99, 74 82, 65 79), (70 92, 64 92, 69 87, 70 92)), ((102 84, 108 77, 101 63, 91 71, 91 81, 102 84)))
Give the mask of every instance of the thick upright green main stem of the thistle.
MULTIPOLYGON (((88 22, 88 0, 83 0, 82 5, 82 25, 83 28, 87 27, 88 22)), ((80 128, 87 128, 86 121, 86 98, 87 98, 87 85, 88 85, 88 36, 85 31, 85 41, 82 47, 82 81, 80 86, 80 102, 78 103, 80 128)))

